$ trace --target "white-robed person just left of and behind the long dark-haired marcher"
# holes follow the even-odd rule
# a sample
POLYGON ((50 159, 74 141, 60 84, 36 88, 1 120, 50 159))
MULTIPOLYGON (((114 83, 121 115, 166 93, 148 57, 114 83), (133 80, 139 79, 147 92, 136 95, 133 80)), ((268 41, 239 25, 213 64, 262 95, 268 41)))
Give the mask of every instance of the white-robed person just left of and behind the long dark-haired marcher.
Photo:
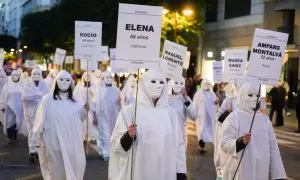
POLYGON ((35 162, 37 160, 37 150, 31 142, 35 114, 39 102, 48 92, 49 88, 43 80, 42 70, 38 67, 34 68, 31 72, 31 78, 28 78, 25 82, 22 92, 24 120, 28 132, 29 160, 31 162, 35 162))

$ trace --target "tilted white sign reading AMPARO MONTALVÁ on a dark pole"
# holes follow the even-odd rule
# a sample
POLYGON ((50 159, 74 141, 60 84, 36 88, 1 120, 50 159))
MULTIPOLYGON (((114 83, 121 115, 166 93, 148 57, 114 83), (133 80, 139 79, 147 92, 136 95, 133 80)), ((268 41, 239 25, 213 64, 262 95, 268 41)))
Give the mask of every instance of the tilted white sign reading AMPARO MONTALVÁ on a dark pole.
POLYGON ((255 29, 247 80, 264 85, 279 82, 288 34, 255 29))

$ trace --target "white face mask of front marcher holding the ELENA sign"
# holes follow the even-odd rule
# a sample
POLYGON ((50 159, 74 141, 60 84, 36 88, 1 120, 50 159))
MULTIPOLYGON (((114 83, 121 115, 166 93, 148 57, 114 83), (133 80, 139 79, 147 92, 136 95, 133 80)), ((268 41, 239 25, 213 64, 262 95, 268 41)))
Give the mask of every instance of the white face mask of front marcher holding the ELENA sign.
POLYGON ((164 89, 164 81, 161 79, 145 80, 145 88, 152 99, 158 99, 164 89))

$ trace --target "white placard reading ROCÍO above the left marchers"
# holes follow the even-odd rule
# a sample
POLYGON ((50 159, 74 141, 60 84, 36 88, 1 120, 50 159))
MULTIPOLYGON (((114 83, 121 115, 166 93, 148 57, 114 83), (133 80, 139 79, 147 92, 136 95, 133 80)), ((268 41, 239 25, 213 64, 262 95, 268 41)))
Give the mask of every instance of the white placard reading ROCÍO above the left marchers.
POLYGON ((76 59, 101 61, 102 23, 75 21, 76 59))

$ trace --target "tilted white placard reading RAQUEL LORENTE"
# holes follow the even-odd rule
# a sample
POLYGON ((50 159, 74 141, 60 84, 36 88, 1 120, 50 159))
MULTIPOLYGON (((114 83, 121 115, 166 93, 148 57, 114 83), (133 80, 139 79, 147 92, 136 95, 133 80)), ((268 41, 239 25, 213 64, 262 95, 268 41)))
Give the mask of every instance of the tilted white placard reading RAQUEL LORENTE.
POLYGON ((165 61, 161 70, 170 79, 182 76, 183 64, 186 57, 187 47, 165 40, 161 60, 165 61))

